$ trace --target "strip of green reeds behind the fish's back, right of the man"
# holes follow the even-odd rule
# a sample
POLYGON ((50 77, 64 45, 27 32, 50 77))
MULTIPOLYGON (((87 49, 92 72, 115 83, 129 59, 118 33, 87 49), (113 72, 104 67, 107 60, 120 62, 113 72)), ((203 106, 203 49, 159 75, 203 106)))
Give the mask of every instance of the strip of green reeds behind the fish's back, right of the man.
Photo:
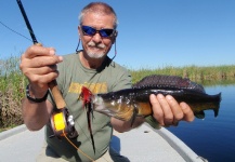
POLYGON ((164 67, 158 69, 140 69, 131 70, 132 82, 135 83, 140 79, 149 75, 170 75, 188 78, 192 81, 201 83, 203 85, 214 84, 233 84, 235 83, 235 65, 224 66, 185 66, 185 67, 164 67))

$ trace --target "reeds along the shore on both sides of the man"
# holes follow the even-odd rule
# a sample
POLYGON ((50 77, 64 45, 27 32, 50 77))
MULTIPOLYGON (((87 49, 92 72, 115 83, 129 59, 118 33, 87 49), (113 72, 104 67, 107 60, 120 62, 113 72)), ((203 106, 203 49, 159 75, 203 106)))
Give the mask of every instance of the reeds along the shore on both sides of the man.
MULTIPOLYGON (((18 57, 0 59, 0 132, 23 124, 21 100, 27 79, 22 75, 18 57)), ((190 78, 203 85, 235 84, 235 65, 210 67, 165 67, 132 70, 133 83, 149 75, 171 75, 190 78)))

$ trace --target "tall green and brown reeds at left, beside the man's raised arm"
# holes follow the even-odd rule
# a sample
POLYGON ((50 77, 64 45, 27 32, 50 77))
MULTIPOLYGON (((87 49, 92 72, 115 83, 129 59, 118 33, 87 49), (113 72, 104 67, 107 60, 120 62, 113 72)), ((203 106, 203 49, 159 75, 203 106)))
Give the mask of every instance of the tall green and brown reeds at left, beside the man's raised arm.
POLYGON ((21 99, 24 97, 25 77, 18 68, 18 57, 0 60, 0 127, 23 123, 21 99))

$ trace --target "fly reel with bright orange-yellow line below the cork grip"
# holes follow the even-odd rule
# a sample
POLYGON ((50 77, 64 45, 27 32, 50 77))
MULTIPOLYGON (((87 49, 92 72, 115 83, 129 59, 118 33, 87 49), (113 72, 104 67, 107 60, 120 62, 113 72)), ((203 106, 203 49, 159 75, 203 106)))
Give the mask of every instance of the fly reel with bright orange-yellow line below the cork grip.
POLYGON ((75 138, 78 136, 77 131, 75 130, 75 122, 73 116, 69 114, 67 108, 55 110, 51 118, 51 127, 53 135, 50 137, 63 137, 68 136, 69 138, 75 138))

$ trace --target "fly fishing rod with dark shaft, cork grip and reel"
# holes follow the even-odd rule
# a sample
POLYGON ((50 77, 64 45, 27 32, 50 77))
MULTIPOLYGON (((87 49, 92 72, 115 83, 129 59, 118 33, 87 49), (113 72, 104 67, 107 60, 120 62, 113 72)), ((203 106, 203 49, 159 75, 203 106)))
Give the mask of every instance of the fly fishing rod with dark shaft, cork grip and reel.
MULTIPOLYGON (((17 1, 19 10, 22 12, 22 15, 23 15, 23 17, 25 19, 26 26, 28 28, 28 31, 30 33, 30 37, 31 37, 31 40, 32 40, 34 44, 41 46, 41 44, 36 39, 35 32, 34 32, 34 30, 31 28, 31 25, 30 25, 29 21, 28 21, 28 17, 26 15, 26 12, 24 10, 22 1, 21 0, 16 0, 16 1, 17 1)), ((61 92, 58 90, 56 80, 51 81, 49 83, 49 87, 50 87, 50 90, 52 92, 52 95, 53 95, 54 100, 55 100, 55 105, 57 107, 57 111, 52 113, 52 116, 50 118, 51 127, 52 127, 52 130, 54 132, 54 135, 52 135, 51 137, 53 137, 53 136, 56 136, 56 137, 65 136, 64 132, 66 134, 68 134, 68 136, 70 138, 76 137, 78 134, 77 134, 77 131, 74 127, 73 116, 69 114, 68 109, 66 108, 65 100, 62 97, 62 94, 61 94, 61 92)))

